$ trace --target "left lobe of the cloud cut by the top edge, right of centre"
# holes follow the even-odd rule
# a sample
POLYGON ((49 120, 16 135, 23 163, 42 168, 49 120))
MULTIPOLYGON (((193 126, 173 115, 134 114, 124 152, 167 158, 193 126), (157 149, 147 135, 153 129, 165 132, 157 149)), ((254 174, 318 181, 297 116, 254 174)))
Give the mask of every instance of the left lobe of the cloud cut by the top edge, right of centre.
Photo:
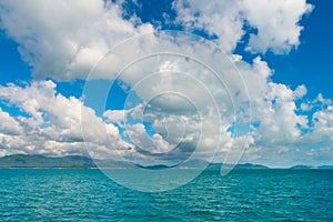
POLYGON ((176 0, 173 8, 176 22, 188 30, 199 29, 216 36, 219 46, 225 51, 233 51, 244 34, 239 1, 176 0))

